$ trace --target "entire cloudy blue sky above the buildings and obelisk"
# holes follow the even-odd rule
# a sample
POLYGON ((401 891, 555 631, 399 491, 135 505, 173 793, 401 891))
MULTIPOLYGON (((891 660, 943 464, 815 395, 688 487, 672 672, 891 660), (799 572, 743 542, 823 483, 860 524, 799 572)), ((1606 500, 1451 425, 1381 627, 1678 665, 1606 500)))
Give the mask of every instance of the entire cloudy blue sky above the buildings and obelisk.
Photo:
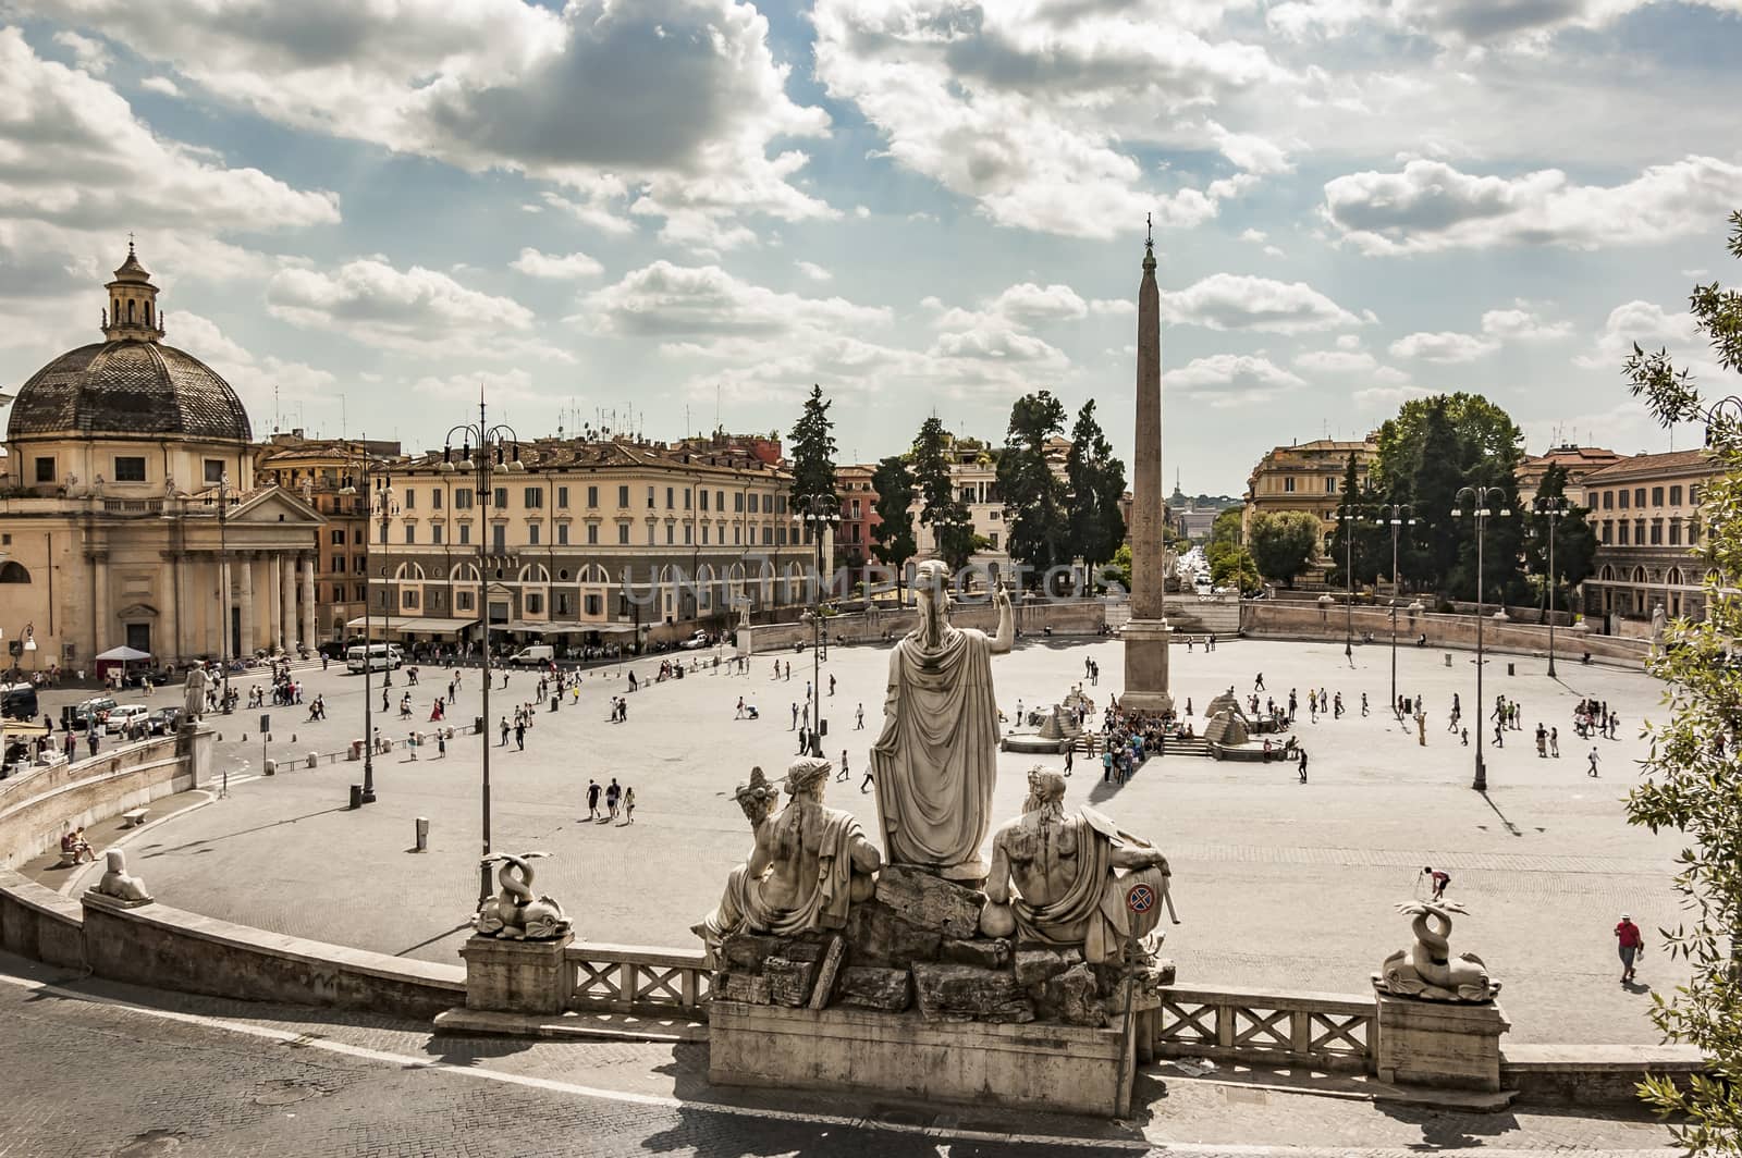
MULTIPOLYGON (((282 425, 439 444, 1097 399, 1157 223, 1165 470, 1481 390, 1664 449, 1634 340, 1737 280, 1742 0, 0 0, 0 388, 138 233, 282 425), (1726 268, 1728 266, 1728 268, 1726 268)), ((1683 435, 1681 444, 1686 444, 1683 435)))

